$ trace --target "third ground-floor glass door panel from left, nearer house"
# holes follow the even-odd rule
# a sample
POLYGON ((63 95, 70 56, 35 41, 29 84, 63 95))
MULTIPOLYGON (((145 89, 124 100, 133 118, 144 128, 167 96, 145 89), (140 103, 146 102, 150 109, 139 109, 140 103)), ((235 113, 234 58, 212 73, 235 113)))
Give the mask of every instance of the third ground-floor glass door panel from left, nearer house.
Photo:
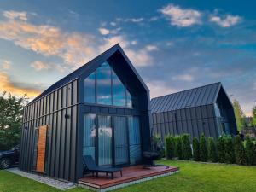
POLYGON ((125 117, 113 117, 115 164, 128 164, 128 136, 125 117))

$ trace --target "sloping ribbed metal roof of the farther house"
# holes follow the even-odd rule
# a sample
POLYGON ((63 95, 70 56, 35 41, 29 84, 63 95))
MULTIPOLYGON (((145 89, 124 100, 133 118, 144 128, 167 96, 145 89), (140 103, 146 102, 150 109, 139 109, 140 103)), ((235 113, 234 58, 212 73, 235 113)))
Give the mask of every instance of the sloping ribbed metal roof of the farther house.
POLYGON ((222 84, 218 82, 166 96, 155 97, 150 102, 151 112, 160 113, 212 104, 216 102, 221 88, 223 88, 222 84))

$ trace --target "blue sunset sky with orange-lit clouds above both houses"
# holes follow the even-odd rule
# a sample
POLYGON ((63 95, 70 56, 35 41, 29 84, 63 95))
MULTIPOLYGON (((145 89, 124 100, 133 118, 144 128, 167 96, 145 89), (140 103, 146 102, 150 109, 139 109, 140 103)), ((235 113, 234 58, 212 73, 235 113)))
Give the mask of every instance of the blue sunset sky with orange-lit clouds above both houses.
POLYGON ((221 81, 250 114, 256 3, 148 2, 1 1, 0 90, 32 98, 119 43, 151 97, 221 81))

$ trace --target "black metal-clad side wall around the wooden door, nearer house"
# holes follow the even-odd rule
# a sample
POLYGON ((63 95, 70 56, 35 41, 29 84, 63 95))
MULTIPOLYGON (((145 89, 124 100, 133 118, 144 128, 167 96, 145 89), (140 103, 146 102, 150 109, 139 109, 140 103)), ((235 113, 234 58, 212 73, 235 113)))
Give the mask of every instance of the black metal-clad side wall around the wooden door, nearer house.
POLYGON ((76 181, 79 105, 77 86, 78 80, 75 79, 26 106, 20 147, 21 170, 28 172, 33 170, 35 128, 49 125, 49 147, 45 174, 76 181), (65 118, 66 114, 68 118, 65 118))

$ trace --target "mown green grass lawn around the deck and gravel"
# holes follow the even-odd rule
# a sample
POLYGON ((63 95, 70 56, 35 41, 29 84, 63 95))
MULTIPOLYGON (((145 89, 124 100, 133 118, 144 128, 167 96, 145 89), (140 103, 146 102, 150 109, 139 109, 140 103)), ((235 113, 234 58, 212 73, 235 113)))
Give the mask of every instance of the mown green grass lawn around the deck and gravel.
MULTIPOLYGON (((180 167, 180 172, 115 191, 256 191, 256 166, 203 164, 191 161, 160 160, 160 164, 180 167)), ((42 183, 0 171, 0 191, 61 191, 42 183)), ((86 189, 70 189, 67 192, 88 192, 86 189)))

